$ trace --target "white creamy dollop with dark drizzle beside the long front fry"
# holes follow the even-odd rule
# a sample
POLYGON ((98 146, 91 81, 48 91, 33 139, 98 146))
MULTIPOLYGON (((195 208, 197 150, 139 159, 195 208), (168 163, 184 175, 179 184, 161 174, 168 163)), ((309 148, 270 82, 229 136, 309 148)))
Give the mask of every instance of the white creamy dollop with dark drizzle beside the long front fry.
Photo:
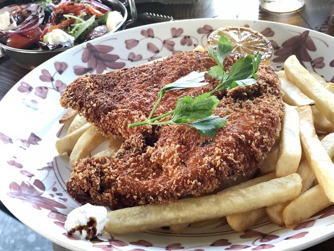
POLYGON ((77 239, 96 237, 107 223, 107 209, 89 203, 72 210, 65 221, 68 235, 77 239))

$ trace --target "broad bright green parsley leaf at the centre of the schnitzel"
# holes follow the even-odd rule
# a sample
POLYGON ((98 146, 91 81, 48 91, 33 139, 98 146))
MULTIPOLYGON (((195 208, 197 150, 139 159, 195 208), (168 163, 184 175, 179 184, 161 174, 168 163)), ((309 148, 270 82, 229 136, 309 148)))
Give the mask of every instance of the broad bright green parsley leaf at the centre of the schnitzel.
POLYGON ((171 119, 174 123, 186 123, 191 120, 208 117, 219 104, 216 96, 203 93, 196 98, 185 96, 177 100, 174 115, 171 119))

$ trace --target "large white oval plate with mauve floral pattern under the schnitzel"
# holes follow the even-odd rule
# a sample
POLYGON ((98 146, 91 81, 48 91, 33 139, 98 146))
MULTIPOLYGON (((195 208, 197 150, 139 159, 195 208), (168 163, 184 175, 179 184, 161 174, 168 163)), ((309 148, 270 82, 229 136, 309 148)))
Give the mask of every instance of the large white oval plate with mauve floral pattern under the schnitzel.
POLYGON ((264 21, 200 19, 154 24, 120 31, 76 46, 48 60, 20 80, 0 102, 0 199, 23 223, 72 250, 300 250, 334 236, 334 207, 293 229, 267 219, 237 233, 220 220, 174 235, 155 229, 102 236, 100 243, 73 240, 64 230, 68 212, 79 206, 65 190, 71 168, 54 144, 64 135, 58 123, 59 98, 66 85, 86 73, 102 73, 146 63, 205 45, 210 32, 227 25, 251 27, 274 47, 272 66, 295 54, 309 69, 334 80, 334 38, 300 27, 264 21))

